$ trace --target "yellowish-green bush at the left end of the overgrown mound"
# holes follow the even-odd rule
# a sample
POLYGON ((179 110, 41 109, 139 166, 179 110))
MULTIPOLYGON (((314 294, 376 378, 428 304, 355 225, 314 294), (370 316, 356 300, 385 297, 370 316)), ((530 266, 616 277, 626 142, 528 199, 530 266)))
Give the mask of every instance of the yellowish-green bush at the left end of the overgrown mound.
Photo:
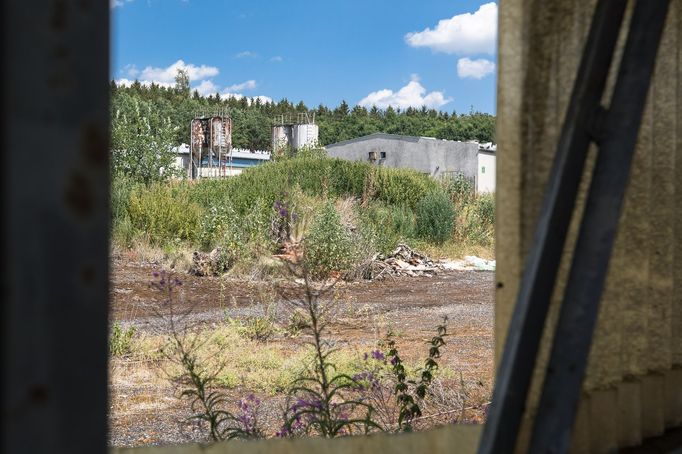
POLYGON ((154 183, 137 188, 130 195, 128 212, 133 226, 156 245, 176 239, 194 240, 201 215, 200 207, 190 201, 185 184, 154 183))

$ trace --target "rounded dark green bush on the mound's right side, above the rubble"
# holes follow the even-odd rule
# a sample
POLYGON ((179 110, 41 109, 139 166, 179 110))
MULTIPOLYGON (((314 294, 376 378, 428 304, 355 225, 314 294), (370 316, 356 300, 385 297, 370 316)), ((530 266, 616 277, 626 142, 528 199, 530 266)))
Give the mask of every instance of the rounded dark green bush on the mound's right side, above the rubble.
POLYGON ((432 192, 419 201, 416 209, 417 235, 424 240, 443 244, 452 236, 455 211, 444 192, 432 192))

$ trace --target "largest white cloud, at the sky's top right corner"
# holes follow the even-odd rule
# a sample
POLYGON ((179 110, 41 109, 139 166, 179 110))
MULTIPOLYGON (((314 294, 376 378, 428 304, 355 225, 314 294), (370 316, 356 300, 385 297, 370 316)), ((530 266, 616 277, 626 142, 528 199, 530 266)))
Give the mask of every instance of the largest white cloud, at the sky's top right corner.
POLYGON ((486 3, 475 13, 443 19, 435 28, 405 35, 412 47, 428 47, 434 52, 472 55, 495 53, 497 4, 486 3))

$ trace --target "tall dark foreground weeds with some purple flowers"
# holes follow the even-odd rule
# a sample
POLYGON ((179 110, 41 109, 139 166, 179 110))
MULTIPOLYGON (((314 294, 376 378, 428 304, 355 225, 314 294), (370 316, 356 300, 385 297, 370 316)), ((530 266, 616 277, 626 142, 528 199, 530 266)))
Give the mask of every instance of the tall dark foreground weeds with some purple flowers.
MULTIPOLYGON (((294 276, 298 276, 294 282, 300 285, 278 291, 294 307, 294 313, 300 314, 297 324, 311 338, 312 355, 308 367, 298 373, 287 389, 277 436, 333 438, 412 430, 413 422, 422 416, 422 404, 438 368, 437 360, 447 335, 446 322, 429 342, 429 355, 418 379, 409 378, 391 338, 384 343, 385 352, 374 350, 366 355, 365 361, 371 356, 373 363, 366 363, 364 372, 355 375, 339 372, 333 362, 336 350, 327 337, 332 305, 325 304, 336 282, 314 284, 304 266, 290 265, 294 276)), ((220 372, 225 364, 219 357, 211 362, 200 354, 211 337, 202 337, 191 329, 191 307, 177 310, 177 287, 182 283, 162 272, 155 275, 151 285, 165 297, 164 314, 159 316, 165 317, 169 334, 162 354, 179 366, 181 372, 173 380, 182 389, 181 397, 190 400, 192 418, 205 423, 213 441, 264 438, 260 400, 249 395, 234 402, 220 386, 220 372), (235 407, 236 410, 230 410, 235 407)))

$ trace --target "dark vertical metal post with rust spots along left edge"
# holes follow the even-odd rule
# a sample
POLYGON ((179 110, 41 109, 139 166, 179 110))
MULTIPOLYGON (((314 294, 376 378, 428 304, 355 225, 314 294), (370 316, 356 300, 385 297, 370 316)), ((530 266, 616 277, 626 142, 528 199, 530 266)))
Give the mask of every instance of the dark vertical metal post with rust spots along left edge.
POLYGON ((104 453, 110 6, 0 8, 0 449, 104 453))

